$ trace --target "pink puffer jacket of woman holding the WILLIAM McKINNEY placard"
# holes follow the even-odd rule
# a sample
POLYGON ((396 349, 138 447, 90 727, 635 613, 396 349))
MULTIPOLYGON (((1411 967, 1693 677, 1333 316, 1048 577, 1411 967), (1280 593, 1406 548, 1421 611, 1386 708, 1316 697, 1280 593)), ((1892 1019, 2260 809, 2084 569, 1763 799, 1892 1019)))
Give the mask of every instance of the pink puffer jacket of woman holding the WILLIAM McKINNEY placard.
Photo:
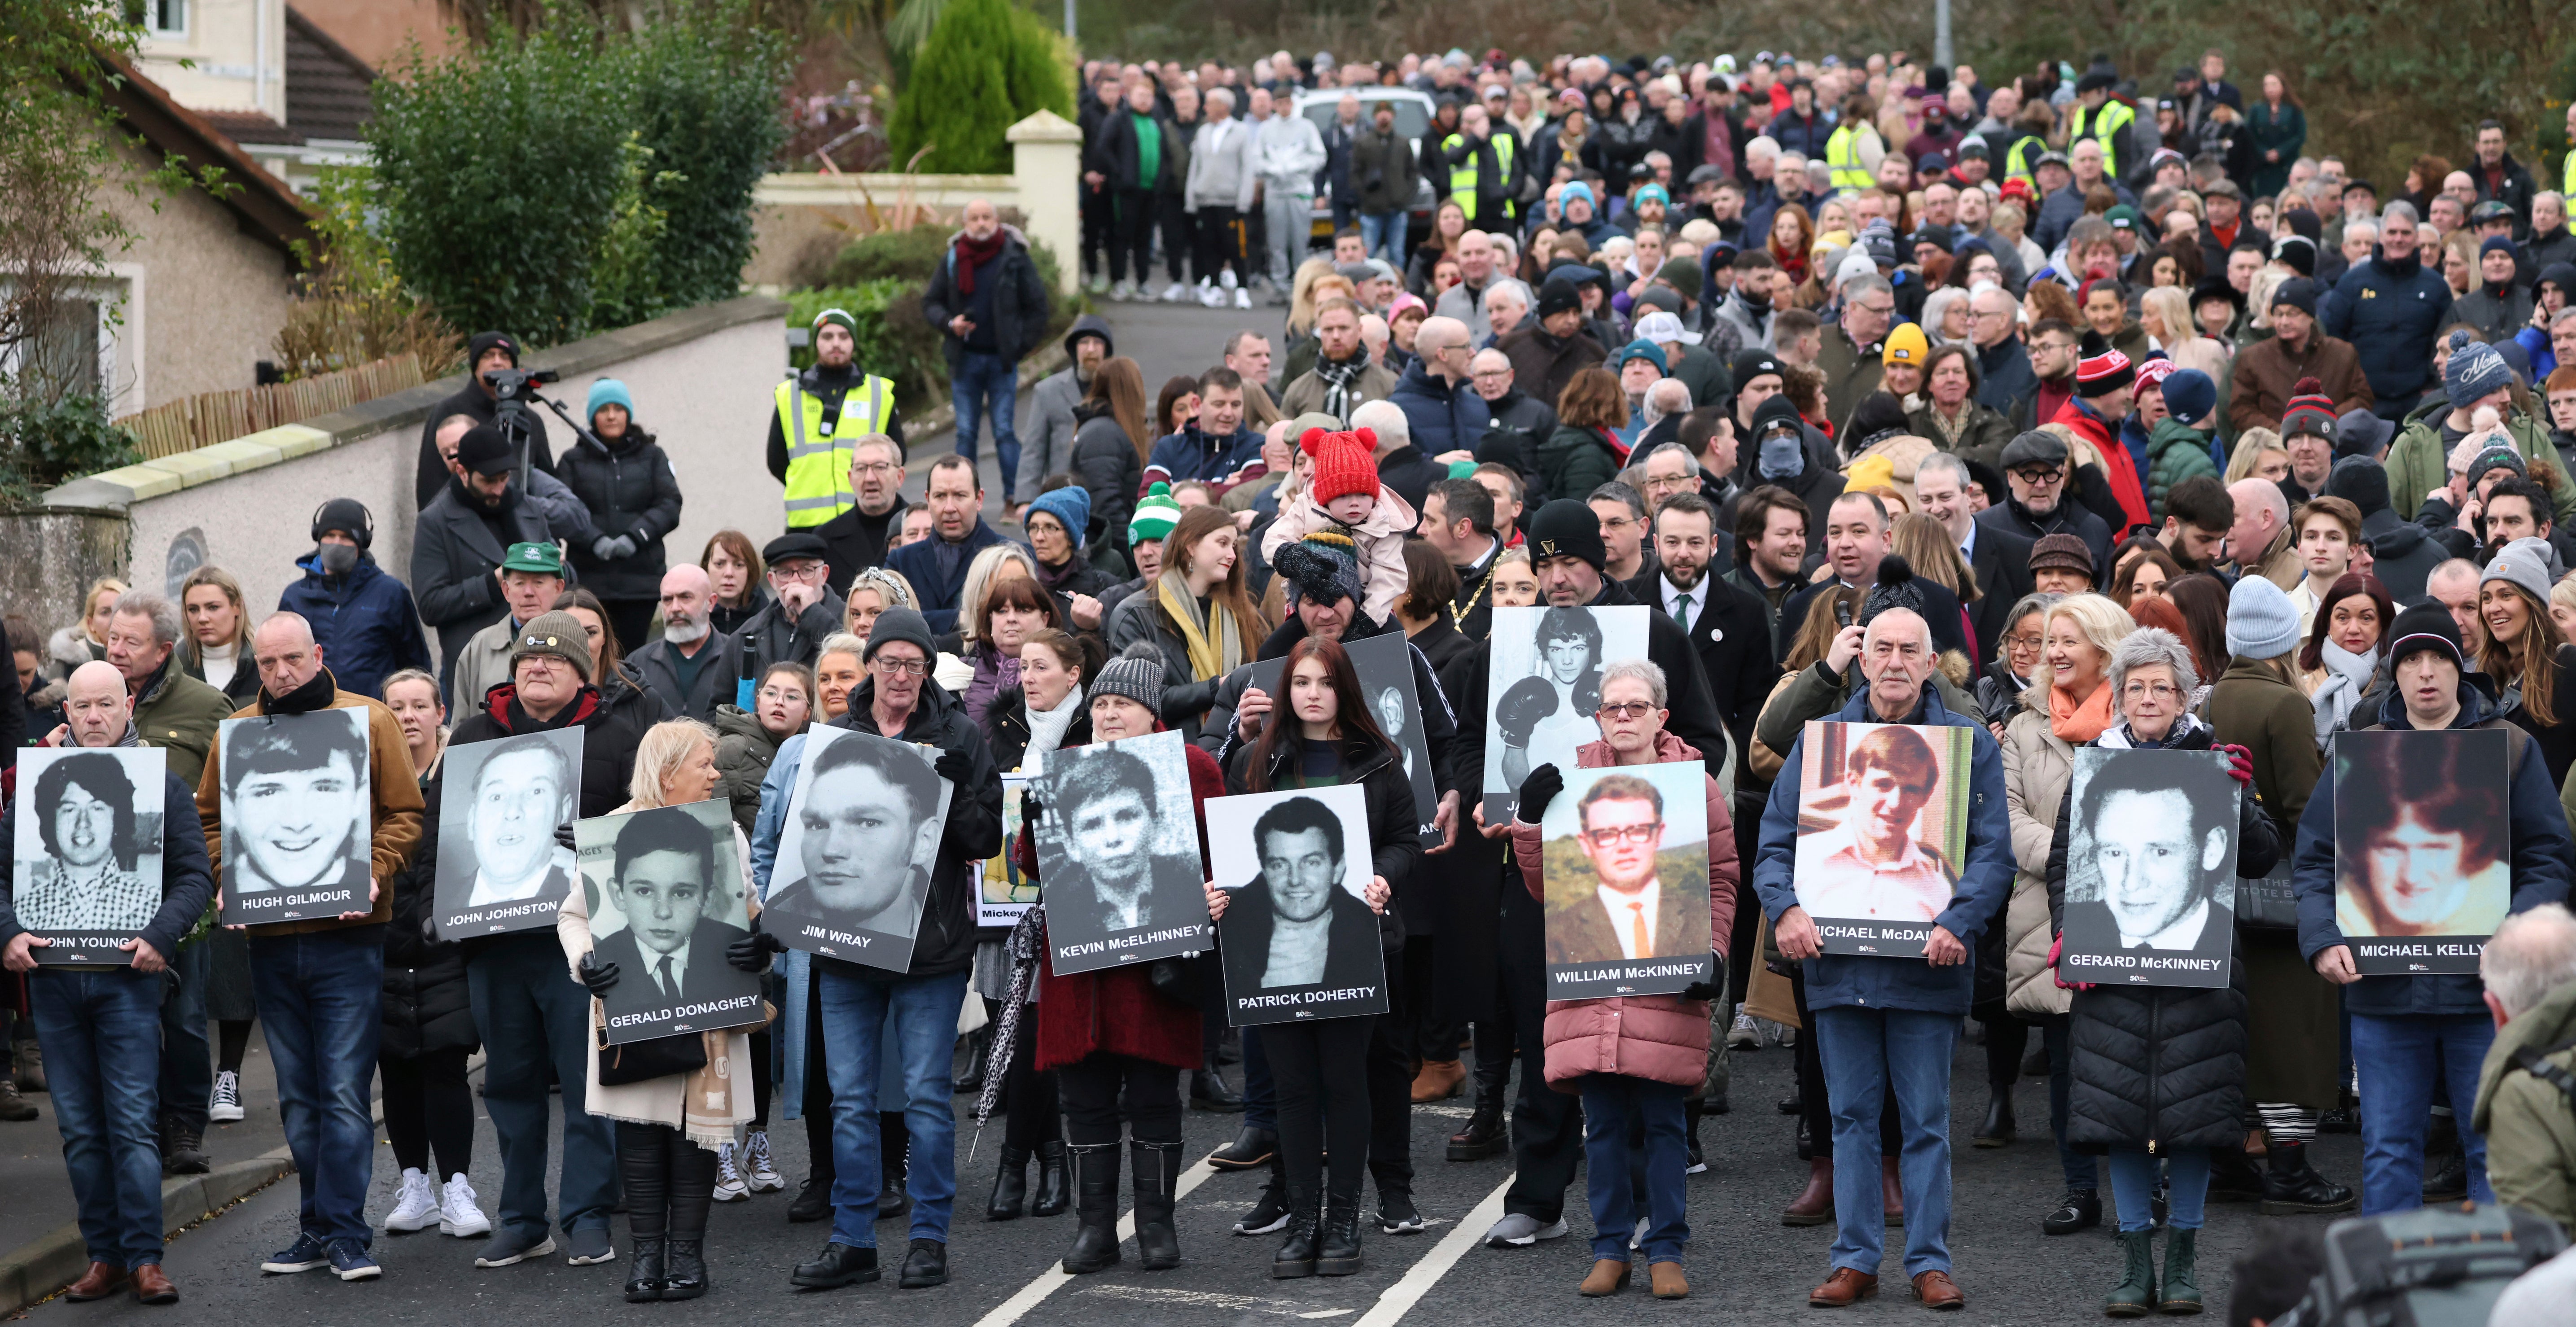
MULTIPOLYGON (((1669 732, 1654 737, 1656 760, 1698 760, 1700 752, 1669 732)), ((1574 765, 1597 770, 1613 765, 1610 742, 1584 742, 1574 765)), ((1736 827, 1726 796, 1708 781, 1708 933, 1723 943, 1736 925, 1736 827)), ((1533 899, 1546 902, 1538 863, 1543 843, 1538 825, 1512 822, 1512 861, 1533 899)), ((1584 1074, 1628 1074, 1654 1082, 1698 1087, 1708 1072, 1708 1002, 1680 995, 1623 995, 1615 1000, 1548 1000, 1548 1085, 1579 1090, 1584 1074)))

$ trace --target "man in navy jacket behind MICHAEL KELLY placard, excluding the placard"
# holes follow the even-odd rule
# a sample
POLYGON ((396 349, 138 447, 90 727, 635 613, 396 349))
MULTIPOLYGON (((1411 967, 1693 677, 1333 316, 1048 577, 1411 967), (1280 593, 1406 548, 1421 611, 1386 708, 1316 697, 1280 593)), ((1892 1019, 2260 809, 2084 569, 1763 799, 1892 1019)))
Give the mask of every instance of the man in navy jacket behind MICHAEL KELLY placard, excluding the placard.
MULTIPOLYGON (((2506 546, 2512 557, 2517 546, 2506 546)), ((2527 912, 2545 902, 2566 902, 2568 879, 2576 874, 2571 858, 2568 819, 2558 809, 2558 788, 2550 783, 2548 760, 2540 745, 2519 727, 2509 724, 2496 703, 2470 683, 2468 654, 2460 649, 2460 629, 2450 611, 2427 603, 2398 613, 2388 631, 2388 673, 2396 696, 2380 703, 2378 721, 2357 732, 2463 732, 2496 729, 2504 734, 2506 768, 2512 783, 2506 794, 2506 835, 2494 845, 2512 881, 2512 912, 2527 912)), ((2360 714, 2354 719, 2362 719, 2360 714)), ((2362 1080, 2362 1216, 2383 1211, 2411 1211, 2424 1206, 2424 1126, 2432 1108, 2432 1085, 2439 1077, 2450 1087, 2450 1100, 2478 1100, 2478 1069, 2496 1026, 2481 1000, 2483 984, 2476 966, 2458 974, 2421 977, 2362 977, 2352 943, 2336 917, 2334 899, 2334 770, 2342 760, 2326 760, 2308 809, 2298 817, 2298 951, 2316 971, 2344 989, 2344 1010, 2352 1013, 2352 1064, 2362 1080)), ((2409 758, 2409 765, 2424 765, 2409 758)), ((2429 773, 2439 778, 2439 770, 2429 773)), ((2388 801, 2401 801, 2406 788, 2385 788, 2388 801)), ((2406 812, 2388 817, 2391 825, 2421 825, 2406 812)), ((2463 871, 2470 863, 2463 861, 2463 871)), ((2501 917, 2499 917, 2501 920, 2501 917)), ((2450 930, 2450 928, 2442 928, 2450 930)), ((2494 930, 2494 920, 2481 922, 2481 935, 2494 930)), ((2486 1139, 2458 1116, 2460 1144, 2468 1149, 2468 1196, 2494 1203, 2496 1193, 2486 1183, 2486 1139)))

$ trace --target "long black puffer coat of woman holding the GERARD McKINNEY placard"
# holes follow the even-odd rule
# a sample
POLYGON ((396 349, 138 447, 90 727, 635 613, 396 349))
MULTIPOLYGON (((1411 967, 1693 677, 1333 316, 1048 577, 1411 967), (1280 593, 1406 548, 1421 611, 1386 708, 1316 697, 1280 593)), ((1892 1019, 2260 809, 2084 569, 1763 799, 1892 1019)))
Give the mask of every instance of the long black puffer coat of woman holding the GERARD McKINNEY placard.
MULTIPOLYGON (((2097 742, 2099 745, 2099 742, 2097 742)), ((2210 750, 2210 729, 2172 740, 2164 750, 2210 750)), ((2048 848, 2048 925, 2066 915, 2066 840, 2076 799, 2058 804, 2058 830, 2048 848)), ((2280 861, 2280 830, 2246 788, 2236 825, 2236 871, 2264 876, 2280 861)), ((2246 1082, 2246 956, 2239 940, 2228 984, 2079 989, 2069 1010, 2074 1074, 2066 1098, 2066 1141, 2102 1154, 2115 1144, 2231 1147, 2244 1141, 2246 1082)))

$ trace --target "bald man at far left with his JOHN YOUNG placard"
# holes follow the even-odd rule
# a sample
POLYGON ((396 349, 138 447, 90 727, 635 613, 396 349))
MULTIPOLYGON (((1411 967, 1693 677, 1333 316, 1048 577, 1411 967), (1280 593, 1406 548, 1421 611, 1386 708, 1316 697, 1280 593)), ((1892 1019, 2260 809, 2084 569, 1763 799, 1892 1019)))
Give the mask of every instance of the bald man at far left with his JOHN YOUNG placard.
MULTIPOLYGON (((152 765, 152 773, 160 776, 160 879, 142 881, 149 886, 149 912, 139 917, 131 910, 106 917, 98 907, 82 904, 82 899, 67 899, 70 907, 62 907, 62 912, 82 915, 88 922, 134 922, 131 938, 116 943, 116 953, 111 953, 116 961, 93 961, 82 971, 54 966, 54 956, 46 951, 59 940, 26 930, 21 907, 28 902, 26 892, 33 884, 33 874, 13 874, 13 879, 0 881, 0 966, 28 974, 26 982, 36 997, 36 1041, 44 1046, 44 1062, 52 1069, 54 1123, 62 1129, 72 1193, 80 1198, 80 1234, 88 1245, 90 1268, 72 1281, 67 1296, 106 1299, 131 1281, 134 1299, 144 1304, 175 1304, 178 1288, 160 1270, 162 1201, 160 1139, 155 1136, 160 1123, 155 1105, 162 1051, 160 974, 167 971, 180 938, 206 912, 206 899, 214 892, 206 871, 206 837, 193 832, 188 786, 175 773, 160 768, 162 752, 139 750, 134 737, 134 698, 126 696, 126 683, 116 673, 116 665, 85 662, 75 667, 62 709, 70 742, 82 750, 98 750, 98 755, 62 755, 54 760, 46 760, 52 752, 21 755, 18 801, 0 819, 0 843, 15 845, 18 835, 28 830, 26 814, 31 807, 21 807, 31 796, 44 801, 39 796, 41 786, 57 770, 75 760, 108 760, 108 770, 116 770, 118 781, 131 783, 126 770, 118 770, 118 765, 126 765, 118 758, 129 752, 144 755, 147 760, 137 760, 134 765, 152 765), (116 755, 108 755, 108 750, 116 750, 116 755), (18 884, 15 892, 10 889, 13 881, 18 884), (46 966, 39 969, 39 964, 46 966)), ((106 788, 108 778, 103 773, 93 776, 90 783, 106 788)), ((57 794, 57 807, 70 807, 82 794, 82 786, 67 781, 57 794)), ((88 796, 88 801, 95 804, 100 799, 88 796)), ((134 825, 131 807, 98 807, 98 812, 100 819, 116 819, 126 830, 134 825)), ((41 837, 49 850, 41 863, 59 861, 75 866, 72 858, 82 853, 70 840, 88 832, 88 827, 59 822, 46 827, 41 837)), ((90 837, 98 837, 103 848, 108 845, 106 832, 90 837)), ((139 845, 126 843, 126 850, 131 848, 139 845)), ((18 853, 18 858, 26 861, 26 853, 18 853)), ((113 866, 113 858, 106 853, 98 861, 113 866)), ((59 871, 57 876, 70 874, 59 871)))

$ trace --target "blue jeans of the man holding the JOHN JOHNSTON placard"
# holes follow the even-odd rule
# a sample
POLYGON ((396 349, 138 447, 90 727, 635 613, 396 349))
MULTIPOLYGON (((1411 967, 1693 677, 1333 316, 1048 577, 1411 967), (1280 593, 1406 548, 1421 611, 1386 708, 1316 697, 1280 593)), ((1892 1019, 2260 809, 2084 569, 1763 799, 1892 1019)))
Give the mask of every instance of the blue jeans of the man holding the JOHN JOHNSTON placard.
MULTIPOLYGON (((641 982, 641 971, 629 971, 641 982)), ((546 1234, 546 1067, 564 1085, 564 1175, 556 1214, 567 1232, 608 1229, 618 1201, 618 1126, 585 1105, 590 992, 564 969, 554 930, 523 930, 466 959, 474 1031, 484 1044, 484 1113, 500 1139, 500 1224, 546 1234)))

